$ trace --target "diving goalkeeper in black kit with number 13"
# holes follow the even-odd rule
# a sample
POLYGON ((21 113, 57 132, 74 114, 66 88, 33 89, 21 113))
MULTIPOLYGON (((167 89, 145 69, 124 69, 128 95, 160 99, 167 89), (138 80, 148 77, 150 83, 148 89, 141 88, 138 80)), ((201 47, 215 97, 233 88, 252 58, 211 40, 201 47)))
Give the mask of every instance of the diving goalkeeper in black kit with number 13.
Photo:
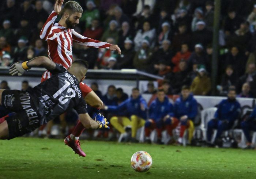
POLYGON ((52 77, 35 86, 31 92, 0 89, 0 105, 16 112, 0 121, 1 140, 32 132, 70 108, 77 111, 84 127, 108 128, 108 122, 101 114, 95 117, 95 121, 90 118, 79 88, 79 82, 85 78, 88 69, 87 62, 76 60, 67 71, 48 57, 36 57, 11 65, 9 71, 12 76, 20 76, 31 67, 44 67, 52 77))

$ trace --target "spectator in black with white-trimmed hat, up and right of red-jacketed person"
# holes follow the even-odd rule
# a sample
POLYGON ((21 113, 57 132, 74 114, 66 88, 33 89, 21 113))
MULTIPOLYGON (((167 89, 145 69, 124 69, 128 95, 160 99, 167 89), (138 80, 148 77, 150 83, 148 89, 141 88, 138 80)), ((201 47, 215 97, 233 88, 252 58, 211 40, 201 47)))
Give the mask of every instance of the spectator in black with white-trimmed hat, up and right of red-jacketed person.
POLYGON ((207 30, 206 24, 203 21, 196 23, 196 30, 192 34, 192 44, 196 45, 201 43, 203 47, 206 47, 212 42, 212 32, 207 30))

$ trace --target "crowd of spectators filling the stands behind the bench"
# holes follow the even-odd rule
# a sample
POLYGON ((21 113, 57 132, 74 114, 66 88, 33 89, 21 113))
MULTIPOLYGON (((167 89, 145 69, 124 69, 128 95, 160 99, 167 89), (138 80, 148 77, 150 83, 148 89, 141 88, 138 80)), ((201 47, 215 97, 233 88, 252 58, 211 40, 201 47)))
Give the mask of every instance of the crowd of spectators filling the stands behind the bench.
MULTIPOLYGON (((213 0, 77 0, 84 12, 75 30, 88 38, 117 44, 108 49, 73 44, 73 57, 91 69, 136 68, 165 77, 170 94, 188 85, 196 95, 226 95, 236 87, 241 96, 256 97, 256 1, 221 3, 218 86, 211 87, 213 0)), ((55 0, 4 0, 0 5, 0 65, 47 56, 39 33, 55 0)), ((57 18, 58 22, 60 18, 57 18)), ((166 84, 167 85, 167 84, 166 84)))

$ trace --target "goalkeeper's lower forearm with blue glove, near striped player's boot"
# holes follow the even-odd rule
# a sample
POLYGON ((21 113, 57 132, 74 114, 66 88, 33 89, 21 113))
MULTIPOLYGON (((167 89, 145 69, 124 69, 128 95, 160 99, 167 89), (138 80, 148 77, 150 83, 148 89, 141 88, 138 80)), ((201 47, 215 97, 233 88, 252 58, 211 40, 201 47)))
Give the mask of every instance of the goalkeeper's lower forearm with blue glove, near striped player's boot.
POLYGON ((97 114, 95 120, 91 119, 88 113, 86 114, 79 114, 79 119, 82 122, 83 126, 86 129, 100 129, 100 128, 108 128, 107 119, 101 115, 97 114))

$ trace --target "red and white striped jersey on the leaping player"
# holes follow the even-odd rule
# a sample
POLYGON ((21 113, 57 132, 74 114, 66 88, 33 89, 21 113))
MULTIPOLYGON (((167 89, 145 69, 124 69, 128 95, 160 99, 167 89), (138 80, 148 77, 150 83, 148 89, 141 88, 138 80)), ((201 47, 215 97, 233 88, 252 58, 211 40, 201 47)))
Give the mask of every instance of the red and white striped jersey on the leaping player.
POLYGON ((111 45, 106 42, 84 37, 74 29, 66 28, 58 23, 53 24, 57 15, 56 12, 52 11, 40 33, 40 38, 46 40, 48 43, 48 56, 53 62, 63 65, 66 69, 71 66, 73 60, 73 41, 80 45, 94 48, 108 49, 111 45))

